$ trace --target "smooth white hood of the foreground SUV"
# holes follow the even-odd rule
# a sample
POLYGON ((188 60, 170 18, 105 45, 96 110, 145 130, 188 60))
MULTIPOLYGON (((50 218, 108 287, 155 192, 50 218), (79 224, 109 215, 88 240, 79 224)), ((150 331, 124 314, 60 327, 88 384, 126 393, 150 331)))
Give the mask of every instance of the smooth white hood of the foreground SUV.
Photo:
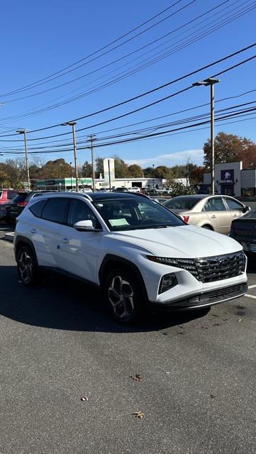
POLYGON ((189 225, 119 231, 113 235, 160 257, 201 258, 242 250, 242 246, 228 236, 189 225))

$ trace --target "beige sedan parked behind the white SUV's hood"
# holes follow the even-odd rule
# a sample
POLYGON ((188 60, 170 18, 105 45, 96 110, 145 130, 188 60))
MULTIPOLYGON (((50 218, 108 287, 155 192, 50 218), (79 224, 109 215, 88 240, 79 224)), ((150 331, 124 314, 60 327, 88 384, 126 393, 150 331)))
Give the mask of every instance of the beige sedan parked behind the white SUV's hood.
POLYGON ((182 216, 184 221, 194 226, 228 235, 233 219, 243 216, 249 206, 230 196, 178 196, 165 201, 166 208, 182 216))

